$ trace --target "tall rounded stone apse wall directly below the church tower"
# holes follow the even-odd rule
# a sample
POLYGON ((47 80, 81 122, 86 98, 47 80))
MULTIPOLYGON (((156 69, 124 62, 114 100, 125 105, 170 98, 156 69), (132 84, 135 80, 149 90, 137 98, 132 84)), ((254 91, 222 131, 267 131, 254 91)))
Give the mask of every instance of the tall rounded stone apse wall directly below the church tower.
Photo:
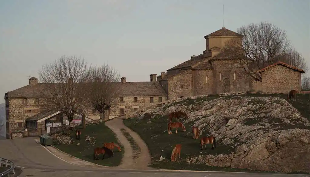
POLYGON ((233 66, 231 60, 212 60, 211 64, 214 69, 213 83, 215 93, 228 93, 236 91, 249 91, 249 77, 243 74, 241 68, 233 66), (234 73, 236 79, 234 79, 234 73))

